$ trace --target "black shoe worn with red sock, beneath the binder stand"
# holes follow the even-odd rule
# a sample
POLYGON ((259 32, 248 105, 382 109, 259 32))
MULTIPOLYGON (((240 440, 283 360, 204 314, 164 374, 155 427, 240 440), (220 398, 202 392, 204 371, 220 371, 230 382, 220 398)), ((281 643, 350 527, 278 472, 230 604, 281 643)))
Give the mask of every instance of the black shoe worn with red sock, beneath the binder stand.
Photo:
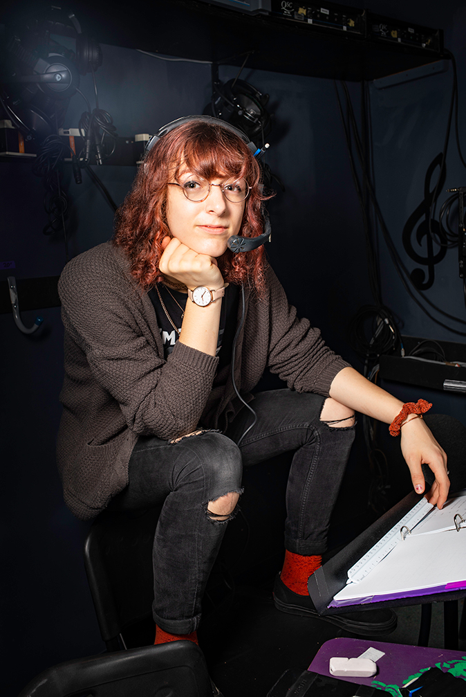
POLYGON ((274 583, 274 604, 278 610, 290 615, 311 615, 311 617, 331 622, 332 625, 362 636, 389 634, 396 629, 398 621, 394 611, 388 608, 362 610, 343 615, 319 615, 311 596, 294 593, 281 581, 280 574, 277 575, 274 583))

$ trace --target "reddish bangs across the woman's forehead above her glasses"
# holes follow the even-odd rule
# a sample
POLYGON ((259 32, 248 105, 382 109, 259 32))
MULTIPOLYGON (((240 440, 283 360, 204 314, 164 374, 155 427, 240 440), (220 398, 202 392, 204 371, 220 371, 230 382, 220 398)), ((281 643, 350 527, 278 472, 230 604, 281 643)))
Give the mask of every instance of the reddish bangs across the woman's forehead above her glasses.
POLYGON ((244 151, 238 148, 238 140, 235 137, 230 139, 227 131, 217 132, 215 135, 217 137, 213 142, 212 137, 205 137, 205 133, 200 133, 184 144, 176 167, 176 178, 180 169, 186 167, 192 174, 208 181, 224 176, 244 177, 248 183, 251 179, 254 181, 256 173, 251 171, 250 160, 244 151))

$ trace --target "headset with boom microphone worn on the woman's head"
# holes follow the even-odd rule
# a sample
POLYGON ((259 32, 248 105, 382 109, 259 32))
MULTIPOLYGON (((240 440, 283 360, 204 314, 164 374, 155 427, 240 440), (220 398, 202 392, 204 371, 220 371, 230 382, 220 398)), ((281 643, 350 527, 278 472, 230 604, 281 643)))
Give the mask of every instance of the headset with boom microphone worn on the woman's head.
MULTIPOLYGON (((235 135, 241 138, 242 141, 244 141, 244 143, 247 144, 249 150, 254 155, 254 157, 258 157, 265 150, 265 148, 256 148, 249 136, 247 136, 246 133, 244 133, 239 128, 236 128, 236 126, 231 125, 231 123, 222 121, 221 118, 215 118, 215 116, 207 116, 206 114, 202 114, 198 116, 182 116, 181 118, 177 118, 176 121, 170 121, 170 123, 166 123, 164 126, 162 126, 162 128, 160 128, 157 131, 157 133, 155 133, 155 135, 151 136, 148 139, 146 147, 144 148, 145 154, 147 155, 147 153, 153 148, 153 146, 155 146, 157 141, 159 141, 160 138, 164 137, 164 135, 173 130, 173 128, 177 128, 183 123, 188 123, 189 121, 203 121, 204 123, 209 123, 210 125, 220 125, 222 126, 222 128, 225 128, 226 130, 233 132, 235 135)), ((233 252, 234 254, 238 254, 238 252, 251 252, 251 250, 256 250, 257 247, 261 247, 261 245, 263 245, 265 242, 270 242, 270 238, 272 236, 272 229, 270 227, 269 217, 266 214, 263 217, 263 226, 265 232, 263 232, 261 235, 258 235, 257 237, 242 237, 240 235, 232 235, 227 242, 228 249, 231 250, 231 252, 233 252)))

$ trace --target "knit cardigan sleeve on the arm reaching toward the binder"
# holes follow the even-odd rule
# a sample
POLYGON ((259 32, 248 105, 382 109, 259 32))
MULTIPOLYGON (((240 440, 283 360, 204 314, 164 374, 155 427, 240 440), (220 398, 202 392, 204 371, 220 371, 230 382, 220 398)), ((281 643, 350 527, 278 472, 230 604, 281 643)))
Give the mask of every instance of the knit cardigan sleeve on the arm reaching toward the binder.
POLYGON ((270 282, 270 340, 268 365, 288 388, 328 397, 337 373, 350 365, 329 348, 320 330, 308 319, 299 319, 272 269, 270 282))

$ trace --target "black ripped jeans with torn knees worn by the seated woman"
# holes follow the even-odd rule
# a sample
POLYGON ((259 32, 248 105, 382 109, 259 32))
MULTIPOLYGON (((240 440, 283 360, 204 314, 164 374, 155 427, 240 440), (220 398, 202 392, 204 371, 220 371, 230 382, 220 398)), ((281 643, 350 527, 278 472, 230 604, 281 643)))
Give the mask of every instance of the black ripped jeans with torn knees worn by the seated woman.
POLYGON ((111 509, 164 502, 153 547, 153 615, 162 629, 189 634, 198 627, 203 590, 225 531, 224 523, 209 515, 208 503, 241 491, 243 467, 295 451, 286 491, 286 549, 304 555, 325 551, 355 427, 320 421, 324 401, 290 390, 261 392, 251 404, 257 422, 240 447, 236 442, 252 422, 246 408, 226 434, 205 431, 177 443, 139 438, 130 483, 111 509))

